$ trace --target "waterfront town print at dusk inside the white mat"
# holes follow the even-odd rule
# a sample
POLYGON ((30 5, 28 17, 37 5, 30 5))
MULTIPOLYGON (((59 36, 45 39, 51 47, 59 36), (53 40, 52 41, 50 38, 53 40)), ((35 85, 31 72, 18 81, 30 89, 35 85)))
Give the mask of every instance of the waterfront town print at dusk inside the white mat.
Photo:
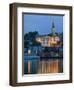
POLYGON ((24 74, 62 73, 63 16, 27 14, 24 23, 24 74))

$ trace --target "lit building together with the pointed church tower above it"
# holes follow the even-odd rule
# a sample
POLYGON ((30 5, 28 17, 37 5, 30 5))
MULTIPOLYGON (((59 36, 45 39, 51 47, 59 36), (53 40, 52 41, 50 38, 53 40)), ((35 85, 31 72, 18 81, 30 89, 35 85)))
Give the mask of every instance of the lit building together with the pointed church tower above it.
POLYGON ((52 35, 39 35, 36 37, 36 41, 40 42, 43 47, 60 47, 61 40, 60 37, 56 35, 54 22, 52 22, 51 34, 52 35))

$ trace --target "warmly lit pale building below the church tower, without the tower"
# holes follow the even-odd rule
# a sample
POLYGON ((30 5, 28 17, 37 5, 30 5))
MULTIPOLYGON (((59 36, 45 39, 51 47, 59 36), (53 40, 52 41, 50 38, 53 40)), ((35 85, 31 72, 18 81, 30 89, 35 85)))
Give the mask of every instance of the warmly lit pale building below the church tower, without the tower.
POLYGON ((58 42, 60 41, 60 38, 59 37, 53 37, 53 36, 48 36, 46 38, 46 36, 39 36, 36 38, 36 41, 37 42, 40 42, 41 43, 41 46, 46 46, 46 47, 53 47, 54 45, 57 46, 58 42))

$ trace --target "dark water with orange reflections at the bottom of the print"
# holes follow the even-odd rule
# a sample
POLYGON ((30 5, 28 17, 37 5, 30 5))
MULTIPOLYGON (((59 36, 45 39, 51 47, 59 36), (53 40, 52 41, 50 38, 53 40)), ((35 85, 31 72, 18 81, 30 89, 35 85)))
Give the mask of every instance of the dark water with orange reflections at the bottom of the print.
POLYGON ((24 74, 62 73, 63 59, 24 60, 24 74))

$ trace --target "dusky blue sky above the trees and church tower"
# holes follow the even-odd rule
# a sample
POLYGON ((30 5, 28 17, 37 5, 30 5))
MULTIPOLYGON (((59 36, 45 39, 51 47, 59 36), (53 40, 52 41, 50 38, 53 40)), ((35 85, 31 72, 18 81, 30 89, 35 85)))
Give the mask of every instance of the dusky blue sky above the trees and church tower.
POLYGON ((53 21, 56 32, 63 32, 63 16, 24 14, 24 34, 33 31, 40 35, 49 34, 53 21))

